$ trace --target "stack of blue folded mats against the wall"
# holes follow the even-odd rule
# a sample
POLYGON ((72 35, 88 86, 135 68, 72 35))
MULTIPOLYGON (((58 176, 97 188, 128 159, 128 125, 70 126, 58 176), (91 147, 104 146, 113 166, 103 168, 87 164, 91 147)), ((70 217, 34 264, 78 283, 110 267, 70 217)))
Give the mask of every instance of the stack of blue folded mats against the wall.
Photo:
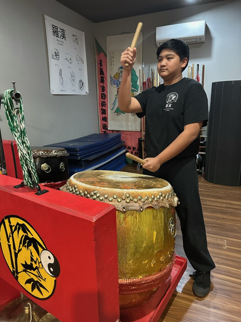
POLYGON ((120 170, 127 164, 123 144, 119 133, 95 133, 46 147, 62 147, 67 150, 71 176, 85 170, 120 170))

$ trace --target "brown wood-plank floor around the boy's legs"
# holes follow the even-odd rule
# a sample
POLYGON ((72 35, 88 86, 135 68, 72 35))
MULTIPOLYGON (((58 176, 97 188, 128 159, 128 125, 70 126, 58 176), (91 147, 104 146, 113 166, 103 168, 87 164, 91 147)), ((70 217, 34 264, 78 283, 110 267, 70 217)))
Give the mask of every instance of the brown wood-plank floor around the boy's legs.
MULTIPOLYGON (((142 173, 136 165, 121 171, 142 173)), ((188 262, 158 322, 241 321, 241 187, 215 185, 200 175, 199 193, 206 225, 208 247, 216 264, 211 271, 211 289, 203 299, 192 292, 193 268, 188 262)), ((185 256, 180 223, 177 223, 175 251, 185 256)))

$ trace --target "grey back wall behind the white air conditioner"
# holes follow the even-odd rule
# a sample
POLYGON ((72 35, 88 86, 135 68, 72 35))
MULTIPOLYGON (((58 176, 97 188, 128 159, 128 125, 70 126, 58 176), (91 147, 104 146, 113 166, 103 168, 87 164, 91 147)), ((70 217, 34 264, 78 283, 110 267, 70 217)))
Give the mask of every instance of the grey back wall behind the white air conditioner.
MULTIPOLYGON (((241 1, 228 0, 194 5, 159 13, 140 15, 95 24, 94 34, 104 50, 106 36, 123 32, 134 33, 138 22, 143 23, 143 61, 145 75, 148 64, 156 68, 156 27, 184 22, 206 20, 206 41, 190 44, 189 65, 199 64, 199 72, 205 64, 204 89, 209 103, 212 82, 241 79, 241 1)), ((123 48, 124 50, 125 48, 123 48)), ((188 68, 183 72, 187 77, 188 68)), ((194 74, 195 74, 194 72, 194 74)))

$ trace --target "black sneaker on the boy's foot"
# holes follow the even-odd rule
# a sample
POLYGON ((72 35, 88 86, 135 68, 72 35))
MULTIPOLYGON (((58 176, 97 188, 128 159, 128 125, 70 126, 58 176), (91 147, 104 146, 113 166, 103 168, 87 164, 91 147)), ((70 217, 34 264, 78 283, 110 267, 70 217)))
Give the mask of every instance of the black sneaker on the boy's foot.
POLYGON ((193 274, 189 275, 194 279, 192 290, 193 293, 199 298, 204 298, 208 295, 210 291, 210 271, 209 272, 200 272, 196 271, 193 274))

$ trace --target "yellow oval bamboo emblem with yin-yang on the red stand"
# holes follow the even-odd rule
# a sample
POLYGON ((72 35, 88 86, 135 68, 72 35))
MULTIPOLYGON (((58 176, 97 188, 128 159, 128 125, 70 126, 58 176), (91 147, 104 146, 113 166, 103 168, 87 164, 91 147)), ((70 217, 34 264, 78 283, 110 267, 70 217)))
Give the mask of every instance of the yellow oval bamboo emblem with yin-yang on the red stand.
POLYGON ((57 258, 30 223, 8 215, 0 223, 0 245, 14 278, 33 297, 50 298, 60 274, 57 258))

